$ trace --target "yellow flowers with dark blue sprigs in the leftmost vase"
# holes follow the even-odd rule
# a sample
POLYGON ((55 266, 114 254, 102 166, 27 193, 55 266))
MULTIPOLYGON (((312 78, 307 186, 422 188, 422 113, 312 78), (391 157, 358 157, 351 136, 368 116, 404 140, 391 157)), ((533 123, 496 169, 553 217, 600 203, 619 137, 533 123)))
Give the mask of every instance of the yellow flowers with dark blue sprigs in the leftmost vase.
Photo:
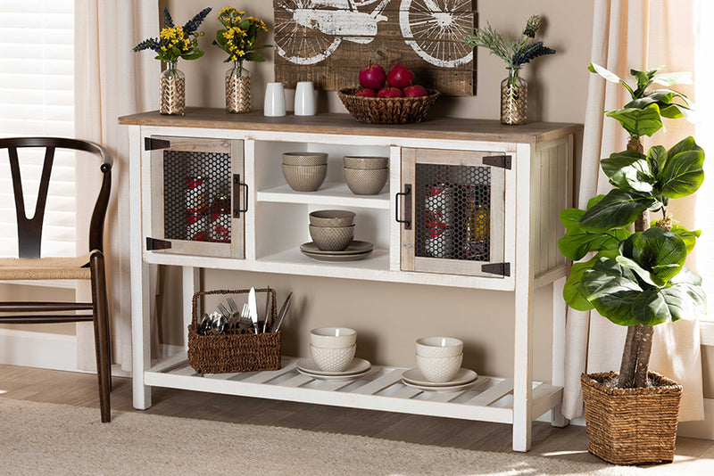
POLYGON ((198 37, 203 37, 203 31, 197 31, 205 20, 211 8, 204 8, 187 21, 183 27, 176 26, 171 19, 169 10, 163 9, 163 29, 158 38, 147 38, 132 48, 133 51, 153 50, 156 52, 154 59, 162 62, 175 62, 179 58, 196 60, 203 56, 203 51, 198 47, 198 37))

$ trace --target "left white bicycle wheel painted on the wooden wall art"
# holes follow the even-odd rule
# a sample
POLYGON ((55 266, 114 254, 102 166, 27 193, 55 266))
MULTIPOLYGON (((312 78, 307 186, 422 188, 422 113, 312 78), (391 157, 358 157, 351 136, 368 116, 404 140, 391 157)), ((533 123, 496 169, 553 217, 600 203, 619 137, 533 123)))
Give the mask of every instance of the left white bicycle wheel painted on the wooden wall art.
POLYGON ((315 64, 334 53, 342 38, 311 28, 319 0, 279 0, 275 6, 275 49, 288 62, 315 64))

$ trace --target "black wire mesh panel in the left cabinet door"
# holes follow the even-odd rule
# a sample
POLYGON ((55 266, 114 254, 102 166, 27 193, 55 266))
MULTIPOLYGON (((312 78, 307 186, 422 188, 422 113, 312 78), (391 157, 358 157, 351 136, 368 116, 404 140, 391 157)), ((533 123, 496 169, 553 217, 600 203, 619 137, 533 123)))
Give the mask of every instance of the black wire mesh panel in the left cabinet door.
POLYGON ((163 151, 164 236, 230 242, 230 154, 163 151))

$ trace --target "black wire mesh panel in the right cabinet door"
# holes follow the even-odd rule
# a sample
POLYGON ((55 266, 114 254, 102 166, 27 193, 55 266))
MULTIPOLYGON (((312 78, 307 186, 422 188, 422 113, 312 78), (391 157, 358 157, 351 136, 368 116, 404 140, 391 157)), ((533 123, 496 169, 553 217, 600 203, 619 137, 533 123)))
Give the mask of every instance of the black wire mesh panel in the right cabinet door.
POLYGON ((490 261, 491 168, 416 164, 415 253, 490 261))

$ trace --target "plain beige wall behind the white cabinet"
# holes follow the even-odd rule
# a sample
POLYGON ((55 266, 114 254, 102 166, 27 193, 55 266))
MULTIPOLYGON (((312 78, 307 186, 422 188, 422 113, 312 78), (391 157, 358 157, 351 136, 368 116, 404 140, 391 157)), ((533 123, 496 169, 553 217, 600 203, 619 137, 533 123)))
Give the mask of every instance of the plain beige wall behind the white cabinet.
MULTIPOLYGON (((203 25, 205 56, 197 62, 179 62, 187 76, 187 105, 223 107, 223 74, 228 65, 224 53, 211 45, 220 23, 216 14, 224 3, 198 0, 165 0, 174 21, 187 21, 204 6, 213 12, 203 25)), ((589 2, 542 0, 502 0, 479 2, 480 24, 490 21, 502 33, 520 33, 531 14, 544 16, 544 38, 558 53, 538 59, 525 68, 529 89, 531 120, 582 122, 585 115, 587 65, 592 29, 589 2)), ((272 2, 237 1, 239 10, 266 21, 272 41, 272 2)), ((269 61, 251 63, 253 108, 260 109, 264 85, 274 78, 272 52, 269 61)), ((365 58, 365 63, 369 58, 365 58)), ((477 53, 477 95, 443 98, 433 114, 462 118, 498 119, 499 86, 505 77, 503 62, 487 53, 477 53)), ((355 71, 355 78, 356 78, 355 71)), ((335 93, 322 94, 322 110, 345 111, 335 93)), ((289 101, 288 101, 289 103, 289 101)), ((287 275, 240 274, 227 271, 203 272, 204 289, 241 288, 270 285, 283 299, 293 291, 294 304, 286 326, 285 351, 307 355, 306 334, 319 325, 347 325, 358 330, 358 354, 376 363, 414 365, 413 341, 424 335, 446 334, 464 339, 464 365, 478 372, 512 373, 513 298, 511 293, 474 291, 394 283, 363 283, 354 280, 323 279, 287 275)), ((175 277, 170 282, 178 283, 175 277)), ((179 289, 176 288, 178 292, 179 289)), ((536 293, 535 376, 550 379, 552 313, 551 288, 536 293)), ((173 314, 173 313, 172 313, 173 314)), ((178 332, 163 335, 179 339, 178 332)))

